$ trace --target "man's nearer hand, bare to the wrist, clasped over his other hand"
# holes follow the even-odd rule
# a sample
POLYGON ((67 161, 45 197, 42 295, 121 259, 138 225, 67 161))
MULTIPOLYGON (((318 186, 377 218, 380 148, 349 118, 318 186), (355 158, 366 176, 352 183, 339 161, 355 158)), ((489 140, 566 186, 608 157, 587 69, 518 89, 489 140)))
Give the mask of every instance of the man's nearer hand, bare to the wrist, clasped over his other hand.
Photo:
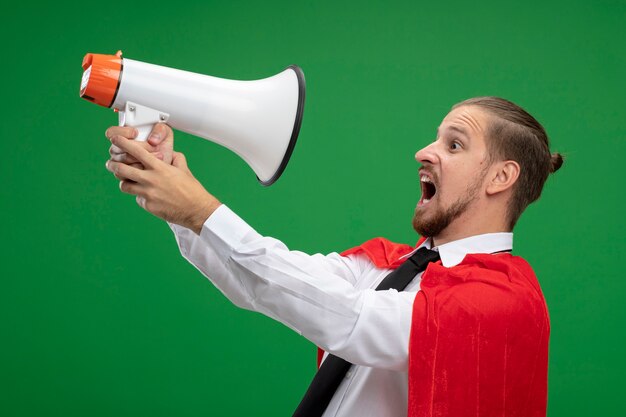
POLYGON ((118 154, 125 155, 123 162, 112 158, 106 163, 107 169, 120 180, 120 190, 135 195, 137 204, 155 216, 200 234, 206 219, 221 203, 194 178, 185 156, 172 152, 169 165, 139 142, 119 134, 112 135, 110 140, 111 148, 114 146, 120 151, 118 154), (135 161, 141 168, 130 166, 128 161, 135 161))

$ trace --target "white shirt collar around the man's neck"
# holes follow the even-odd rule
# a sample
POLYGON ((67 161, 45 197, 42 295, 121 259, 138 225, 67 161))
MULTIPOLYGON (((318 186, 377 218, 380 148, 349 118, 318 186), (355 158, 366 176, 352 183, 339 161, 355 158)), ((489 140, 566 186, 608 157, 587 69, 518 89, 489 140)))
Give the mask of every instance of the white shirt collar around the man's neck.
POLYGON ((446 268, 451 268, 460 264, 465 255, 469 253, 494 253, 512 250, 513 233, 485 233, 448 242, 437 247, 432 247, 432 244, 432 238, 428 238, 422 242, 418 249, 426 247, 438 251, 441 264, 446 268))

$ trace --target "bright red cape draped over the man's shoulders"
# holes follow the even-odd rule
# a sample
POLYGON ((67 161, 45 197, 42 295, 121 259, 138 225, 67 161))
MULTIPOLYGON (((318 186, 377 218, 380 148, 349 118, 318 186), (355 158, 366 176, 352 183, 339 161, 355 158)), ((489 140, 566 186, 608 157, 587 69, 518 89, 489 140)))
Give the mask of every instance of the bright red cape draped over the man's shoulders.
MULTIPOLYGON (((376 238, 342 255, 397 268, 414 249, 376 238)), ((550 321, 528 263, 507 253, 467 255, 452 268, 430 264, 420 287, 408 416, 545 416, 550 321)))

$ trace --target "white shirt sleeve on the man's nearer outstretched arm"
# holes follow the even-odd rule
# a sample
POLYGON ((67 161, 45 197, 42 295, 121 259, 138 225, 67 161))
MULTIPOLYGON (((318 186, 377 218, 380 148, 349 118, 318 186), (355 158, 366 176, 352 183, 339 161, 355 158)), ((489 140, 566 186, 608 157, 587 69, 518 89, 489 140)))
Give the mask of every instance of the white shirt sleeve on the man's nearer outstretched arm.
POLYGON ((235 305, 278 320, 349 362, 406 371, 415 292, 359 289, 362 257, 289 250, 224 205, 200 236, 170 226, 185 259, 235 305))

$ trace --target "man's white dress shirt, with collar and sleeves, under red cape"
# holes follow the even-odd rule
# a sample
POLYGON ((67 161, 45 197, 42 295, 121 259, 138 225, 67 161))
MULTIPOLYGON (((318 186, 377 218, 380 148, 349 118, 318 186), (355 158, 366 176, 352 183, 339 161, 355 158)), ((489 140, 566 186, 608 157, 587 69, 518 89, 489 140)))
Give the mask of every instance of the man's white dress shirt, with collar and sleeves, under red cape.
MULTIPOLYGON (((325 417, 406 416, 411 315, 421 274, 405 291, 375 291, 391 270, 375 267, 364 255, 289 250, 224 205, 199 236, 170 226, 185 259, 235 305, 278 320, 355 364, 325 417)), ((511 250, 512 244, 511 233, 490 233, 433 249, 443 266, 452 267, 468 253, 511 250)), ((430 248, 430 239, 422 246, 430 248)))

